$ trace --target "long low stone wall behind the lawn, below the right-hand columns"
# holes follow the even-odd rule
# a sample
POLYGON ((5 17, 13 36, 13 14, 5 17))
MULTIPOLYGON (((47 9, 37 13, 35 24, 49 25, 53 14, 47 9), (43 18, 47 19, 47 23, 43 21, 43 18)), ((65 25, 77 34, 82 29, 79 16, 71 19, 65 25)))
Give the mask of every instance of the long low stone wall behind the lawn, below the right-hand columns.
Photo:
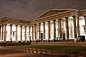
POLYGON ((31 45, 86 46, 86 42, 31 42, 31 45))

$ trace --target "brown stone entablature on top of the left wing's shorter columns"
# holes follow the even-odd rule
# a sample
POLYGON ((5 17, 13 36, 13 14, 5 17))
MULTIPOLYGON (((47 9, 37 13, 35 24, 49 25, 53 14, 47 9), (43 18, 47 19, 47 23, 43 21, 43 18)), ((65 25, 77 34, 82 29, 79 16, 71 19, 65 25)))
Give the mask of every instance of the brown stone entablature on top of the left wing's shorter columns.
POLYGON ((29 25, 30 21, 18 20, 13 18, 2 18, 0 24, 15 24, 15 25, 29 25))

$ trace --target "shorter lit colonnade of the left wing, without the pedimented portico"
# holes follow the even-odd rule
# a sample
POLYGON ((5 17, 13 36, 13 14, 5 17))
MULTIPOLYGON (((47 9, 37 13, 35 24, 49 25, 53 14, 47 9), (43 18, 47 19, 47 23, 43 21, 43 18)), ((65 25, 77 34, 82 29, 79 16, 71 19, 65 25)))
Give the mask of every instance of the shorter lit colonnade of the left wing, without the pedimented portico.
MULTIPOLYGON (((9 26, 9 25, 7 25, 7 24, 2 24, 2 25, 0 25, 0 40, 1 41, 4 41, 4 42, 6 42, 7 40, 6 40, 6 38, 7 38, 7 26, 9 26)), ((12 30, 13 30, 13 28, 12 28, 12 24, 10 24, 10 29, 9 29, 9 31, 10 31, 10 39, 12 39, 12 30)), ((25 41, 27 41, 27 38, 26 38, 26 31, 27 31, 27 26, 24 26, 25 27, 25 41)), ((29 27, 29 29, 30 29, 30 27, 29 27)), ((28 29, 28 30, 29 30, 28 29)), ((19 41, 22 41, 22 25, 20 25, 20 35, 18 35, 18 25, 15 25, 15 38, 16 38, 16 41, 18 41, 18 36, 20 36, 20 38, 21 38, 21 40, 19 40, 19 41)), ((30 30, 29 30, 30 31, 30 30)), ((28 36, 29 36, 29 32, 28 32, 28 36)), ((11 40, 12 41, 12 40, 11 40)))

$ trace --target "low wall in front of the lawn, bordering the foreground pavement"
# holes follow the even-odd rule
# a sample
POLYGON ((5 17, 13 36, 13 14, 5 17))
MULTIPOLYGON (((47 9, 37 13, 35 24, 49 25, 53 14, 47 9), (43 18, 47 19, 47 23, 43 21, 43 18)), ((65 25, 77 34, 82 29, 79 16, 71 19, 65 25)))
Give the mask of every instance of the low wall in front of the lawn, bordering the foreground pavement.
POLYGON ((30 52, 30 53, 40 53, 48 55, 61 55, 66 57, 86 57, 85 51, 61 51, 61 50, 47 50, 47 49, 36 49, 36 48, 18 48, 18 47, 4 47, 1 46, 0 49, 12 50, 12 51, 21 51, 21 52, 30 52))

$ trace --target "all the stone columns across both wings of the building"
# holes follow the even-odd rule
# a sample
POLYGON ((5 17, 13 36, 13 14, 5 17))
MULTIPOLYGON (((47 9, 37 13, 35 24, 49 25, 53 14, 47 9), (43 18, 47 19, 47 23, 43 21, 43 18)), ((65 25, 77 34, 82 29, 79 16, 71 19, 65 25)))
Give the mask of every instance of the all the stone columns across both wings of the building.
MULTIPOLYGON (((73 17, 73 23, 74 23, 74 38, 77 38, 77 32, 76 32, 76 16, 72 16, 73 17)), ((85 18, 85 32, 86 32, 86 16, 84 16, 85 18)), ((67 40, 69 39, 69 27, 68 27, 68 17, 65 18, 66 19, 66 36, 67 36, 67 40)), ((55 24, 55 21, 56 20, 53 20, 53 23, 54 23, 54 39, 56 38, 56 24, 55 24)), ((7 24, 4 24, 5 25, 5 34, 4 34, 4 41, 6 41, 6 25, 7 24)), ((17 40, 17 27, 18 25, 15 25, 16 26, 16 40, 17 40)), ((36 26, 37 24, 35 24, 34 28, 35 28, 35 39, 37 39, 37 29, 36 29, 36 26)), ((40 35, 40 26, 41 26, 41 23, 39 23, 39 39, 41 39, 41 35, 40 35)), ((26 27, 25 26, 25 39, 26 39, 26 27)), ((21 40, 22 40, 22 26, 20 26, 21 28, 21 40)), ((30 35, 30 26, 29 26, 29 35, 30 35)), ((59 19, 58 21, 58 36, 60 38, 62 38, 62 31, 61 31, 61 19, 59 19)), ((77 31, 78 31, 78 36, 80 35, 80 29, 79 29, 79 17, 77 19, 77 31)), ((0 32, 1 32, 1 26, 0 26, 0 32)), ((10 25, 10 35, 12 35, 12 25, 10 25)), ((1 33, 0 33, 0 36, 1 36, 1 33)), ((45 39, 45 22, 43 22, 43 37, 45 39)), ((48 21, 48 39, 50 39, 50 21, 48 21)), ((31 40, 31 38, 29 37, 29 39, 31 40)), ((32 39, 33 39, 33 26, 32 26, 32 39)), ((2 40, 3 40, 3 25, 2 25, 2 40)))

